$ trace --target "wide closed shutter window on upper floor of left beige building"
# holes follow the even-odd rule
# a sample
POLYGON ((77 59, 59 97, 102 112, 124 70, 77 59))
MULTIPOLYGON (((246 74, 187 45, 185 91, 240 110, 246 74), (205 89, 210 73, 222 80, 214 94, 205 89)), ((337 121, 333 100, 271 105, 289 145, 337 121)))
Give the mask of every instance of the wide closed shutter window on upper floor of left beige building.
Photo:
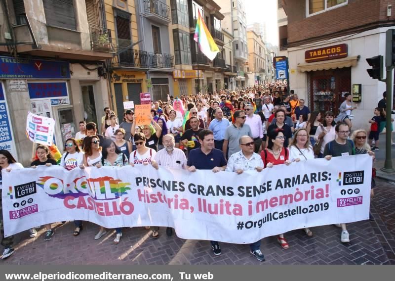
POLYGON ((77 30, 73 0, 42 0, 48 25, 77 30))

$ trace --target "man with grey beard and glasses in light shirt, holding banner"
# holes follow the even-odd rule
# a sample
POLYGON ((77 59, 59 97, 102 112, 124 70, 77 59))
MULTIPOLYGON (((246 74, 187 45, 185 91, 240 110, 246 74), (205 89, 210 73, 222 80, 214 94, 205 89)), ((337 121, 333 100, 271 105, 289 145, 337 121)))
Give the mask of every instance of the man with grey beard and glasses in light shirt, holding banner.
MULTIPOLYGON (((187 157, 185 157, 185 154, 181 149, 175 147, 173 135, 164 135, 162 143, 164 148, 158 151, 154 160, 151 161, 151 165, 157 170, 159 169, 159 166, 172 169, 185 169, 187 165, 187 157)), ((167 236, 171 236, 173 234, 173 229, 168 227, 166 229, 166 234, 167 236)))

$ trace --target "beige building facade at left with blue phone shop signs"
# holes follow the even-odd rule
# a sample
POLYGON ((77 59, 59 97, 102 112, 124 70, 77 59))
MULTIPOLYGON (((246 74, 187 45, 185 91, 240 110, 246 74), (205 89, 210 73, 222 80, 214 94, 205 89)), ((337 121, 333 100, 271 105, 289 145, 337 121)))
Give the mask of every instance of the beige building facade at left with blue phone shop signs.
POLYGON ((0 145, 29 165, 28 111, 55 119, 61 150, 79 121, 100 124, 103 107, 111 106, 105 61, 114 43, 101 0, 6 0, 0 22, 7 23, 0 34, 0 102, 9 132, 9 143, 0 145))

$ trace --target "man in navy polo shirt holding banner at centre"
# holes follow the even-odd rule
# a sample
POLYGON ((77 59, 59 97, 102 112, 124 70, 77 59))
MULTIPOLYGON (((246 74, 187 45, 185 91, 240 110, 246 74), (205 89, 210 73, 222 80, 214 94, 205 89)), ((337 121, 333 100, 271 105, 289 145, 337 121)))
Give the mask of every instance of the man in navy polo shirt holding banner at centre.
MULTIPOLYGON (((214 148, 214 133, 210 130, 202 130, 199 135, 200 147, 189 152, 187 169, 190 172, 196 170, 212 170, 214 173, 225 171, 226 160, 221 150, 214 148)), ((221 254, 221 247, 217 241, 210 241, 214 255, 221 254)))

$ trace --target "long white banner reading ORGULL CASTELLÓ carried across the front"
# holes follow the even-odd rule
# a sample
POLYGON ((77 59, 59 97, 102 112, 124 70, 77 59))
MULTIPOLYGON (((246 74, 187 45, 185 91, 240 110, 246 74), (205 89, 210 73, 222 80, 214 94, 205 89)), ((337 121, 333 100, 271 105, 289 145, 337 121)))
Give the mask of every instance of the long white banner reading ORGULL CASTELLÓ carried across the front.
POLYGON ((110 229, 169 226, 181 238, 251 243, 368 219, 372 158, 314 159, 241 175, 151 166, 39 166, 2 174, 6 236, 82 220, 110 229))

